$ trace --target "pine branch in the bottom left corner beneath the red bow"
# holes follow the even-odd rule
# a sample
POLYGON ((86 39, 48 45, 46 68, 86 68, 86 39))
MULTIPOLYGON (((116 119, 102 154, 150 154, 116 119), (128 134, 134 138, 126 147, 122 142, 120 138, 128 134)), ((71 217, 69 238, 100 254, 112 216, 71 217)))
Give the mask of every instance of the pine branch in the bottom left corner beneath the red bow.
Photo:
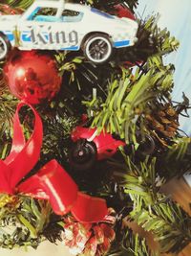
POLYGON ((22 196, 0 195, 0 246, 36 248, 45 238, 52 208, 48 201, 22 196), (8 229, 9 227, 9 229, 8 229))

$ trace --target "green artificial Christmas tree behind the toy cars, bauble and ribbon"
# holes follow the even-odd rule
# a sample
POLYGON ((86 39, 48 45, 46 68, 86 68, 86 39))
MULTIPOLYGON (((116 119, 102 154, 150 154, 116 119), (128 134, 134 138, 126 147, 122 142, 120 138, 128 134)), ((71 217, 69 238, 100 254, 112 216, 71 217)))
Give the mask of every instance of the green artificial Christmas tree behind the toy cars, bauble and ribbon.
MULTIPOLYGON (((24 12, 32 2, 2 1, 0 12, 24 12)), ((117 5, 122 6, 123 14, 124 10, 126 14, 129 10, 135 13, 138 6, 137 0, 74 2, 88 4, 118 16, 121 13, 117 13, 117 5)), ((45 15, 51 13, 48 9, 43 11, 45 15)), ((134 19, 133 13, 131 17, 134 19)), ((189 100, 183 95, 182 104, 172 101, 170 94, 174 85, 175 67, 163 64, 163 57, 176 51, 179 42, 167 29, 159 29, 158 19, 158 15, 146 20, 140 17, 136 44, 117 49, 110 61, 101 65, 88 62, 80 51, 77 55, 71 51, 44 53, 55 59, 58 73, 54 76, 59 74, 63 81, 59 93, 51 102, 45 101, 35 106, 43 123, 43 146, 38 162, 21 182, 36 175, 39 168, 55 158, 74 178, 81 191, 106 199, 108 207, 115 209, 112 224, 107 219, 111 216, 107 216, 107 220, 84 224, 76 221, 71 214, 55 215, 48 200, 2 193, 2 247, 36 248, 48 239, 54 244, 56 241, 64 241, 63 244, 86 256, 96 253, 153 256, 145 239, 123 225, 126 218, 151 231, 159 241, 161 251, 179 252, 189 244, 190 216, 171 198, 160 193, 161 185, 170 178, 191 170, 191 141, 188 137, 182 137, 179 130, 179 116, 189 108, 189 100), (92 124, 99 132, 104 129, 111 136, 117 137, 117 140, 126 143, 128 151, 121 149, 112 159, 99 160, 97 157, 90 170, 79 171, 74 170, 70 162, 70 151, 74 144, 71 133, 77 125, 81 125, 81 116, 86 113, 86 128, 92 124), (144 141, 148 135, 155 143, 150 155, 145 153, 147 148, 138 150, 139 142, 144 141), (10 233, 7 226, 11 226, 10 233), (73 234, 72 241, 69 233, 73 234), (109 251, 115 234, 116 241, 109 251), (77 244, 78 239, 83 242, 83 248, 77 244)), ((17 52, 17 57, 19 55, 17 52)), ((39 56, 38 60, 41 58, 39 56)), ((1 159, 6 159, 11 151, 12 116, 18 103, 3 79, 3 66, 6 64, 9 64, 8 59, 1 61, 1 159)), ((25 137, 29 139, 33 129, 32 111, 23 108, 20 119, 25 137)))

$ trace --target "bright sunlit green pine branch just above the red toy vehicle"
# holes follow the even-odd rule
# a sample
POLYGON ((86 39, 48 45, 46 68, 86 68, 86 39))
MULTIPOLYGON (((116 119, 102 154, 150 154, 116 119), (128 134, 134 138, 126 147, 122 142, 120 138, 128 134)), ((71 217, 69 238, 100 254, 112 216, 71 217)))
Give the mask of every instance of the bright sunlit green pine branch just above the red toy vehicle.
POLYGON ((111 81, 108 96, 96 110, 96 101, 84 102, 94 114, 93 127, 116 133, 126 142, 133 141, 138 123, 144 124, 145 114, 159 104, 161 97, 169 97, 172 89, 172 71, 152 68, 145 74, 137 68, 135 75, 126 72, 120 80, 111 81))

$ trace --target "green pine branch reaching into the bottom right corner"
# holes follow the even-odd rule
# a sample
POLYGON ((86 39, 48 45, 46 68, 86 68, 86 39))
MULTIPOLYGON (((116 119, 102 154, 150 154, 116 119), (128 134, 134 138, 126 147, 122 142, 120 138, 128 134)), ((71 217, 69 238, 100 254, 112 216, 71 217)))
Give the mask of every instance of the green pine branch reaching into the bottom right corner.
POLYGON ((139 168, 129 158, 129 174, 114 173, 120 186, 133 201, 129 217, 159 241, 162 252, 180 252, 191 242, 191 218, 180 205, 159 193, 164 179, 156 174, 156 159, 140 163, 139 168))

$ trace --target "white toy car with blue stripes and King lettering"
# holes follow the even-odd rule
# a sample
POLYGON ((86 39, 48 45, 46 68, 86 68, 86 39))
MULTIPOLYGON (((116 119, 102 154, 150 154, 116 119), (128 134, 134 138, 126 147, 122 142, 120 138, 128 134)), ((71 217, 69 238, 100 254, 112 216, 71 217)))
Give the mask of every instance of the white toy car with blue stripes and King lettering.
POLYGON ((82 49, 88 60, 102 63, 111 57, 113 48, 134 45, 137 31, 135 20, 90 6, 36 0, 21 15, 0 16, 0 59, 16 46, 20 50, 82 49))

